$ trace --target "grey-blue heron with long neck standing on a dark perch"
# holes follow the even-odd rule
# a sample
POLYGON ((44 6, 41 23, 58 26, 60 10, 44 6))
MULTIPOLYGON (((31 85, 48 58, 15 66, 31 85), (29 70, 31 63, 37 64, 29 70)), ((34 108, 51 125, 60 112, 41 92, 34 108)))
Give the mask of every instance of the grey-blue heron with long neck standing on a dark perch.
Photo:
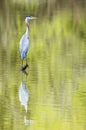
MULTIPOLYGON (((27 65, 27 52, 30 46, 30 41, 29 41, 29 20, 36 19, 36 17, 33 16, 27 16, 25 18, 25 24, 26 24, 26 32, 23 34, 22 38, 20 39, 20 55, 22 59, 22 66, 23 66, 23 60, 26 58, 26 65, 27 65)), ((25 67, 26 69, 26 67, 25 67)))

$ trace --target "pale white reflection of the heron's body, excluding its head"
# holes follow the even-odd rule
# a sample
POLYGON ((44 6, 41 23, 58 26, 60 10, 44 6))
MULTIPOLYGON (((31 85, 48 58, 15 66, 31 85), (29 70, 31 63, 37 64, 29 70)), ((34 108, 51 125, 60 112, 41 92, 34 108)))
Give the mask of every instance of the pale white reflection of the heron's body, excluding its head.
POLYGON ((22 81, 19 88, 19 100, 21 104, 25 107, 27 112, 28 110, 28 100, 29 100, 29 90, 27 89, 26 84, 22 81))

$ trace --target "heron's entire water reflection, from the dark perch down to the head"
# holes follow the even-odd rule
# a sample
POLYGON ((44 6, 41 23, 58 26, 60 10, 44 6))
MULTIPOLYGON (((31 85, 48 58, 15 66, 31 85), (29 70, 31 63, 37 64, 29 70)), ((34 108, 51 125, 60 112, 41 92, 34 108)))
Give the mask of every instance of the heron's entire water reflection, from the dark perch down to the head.
MULTIPOLYGON (((27 76, 28 76, 28 72, 26 71, 27 67, 28 67, 27 64, 26 64, 26 66, 21 67, 21 72, 22 72, 21 73, 21 78, 22 78, 22 80, 21 80, 21 84, 20 84, 20 87, 19 87, 19 101, 21 102, 21 105, 24 106, 26 114, 28 114, 27 112, 28 112, 28 102, 29 102, 29 89, 28 89, 28 87, 26 85, 27 76)), ((24 116, 25 125, 32 125, 33 120, 27 119, 26 114, 24 116)))

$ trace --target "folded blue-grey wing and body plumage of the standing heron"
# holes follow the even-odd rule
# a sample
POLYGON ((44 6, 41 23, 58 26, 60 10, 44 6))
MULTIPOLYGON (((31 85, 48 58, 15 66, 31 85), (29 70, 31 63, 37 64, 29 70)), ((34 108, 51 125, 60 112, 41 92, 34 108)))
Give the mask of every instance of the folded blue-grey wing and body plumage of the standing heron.
POLYGON ((22 59, 26 57, 28 48, 29 48, 29 38, 26 34, 24 34, 20 40, 20 54, 22 59))

